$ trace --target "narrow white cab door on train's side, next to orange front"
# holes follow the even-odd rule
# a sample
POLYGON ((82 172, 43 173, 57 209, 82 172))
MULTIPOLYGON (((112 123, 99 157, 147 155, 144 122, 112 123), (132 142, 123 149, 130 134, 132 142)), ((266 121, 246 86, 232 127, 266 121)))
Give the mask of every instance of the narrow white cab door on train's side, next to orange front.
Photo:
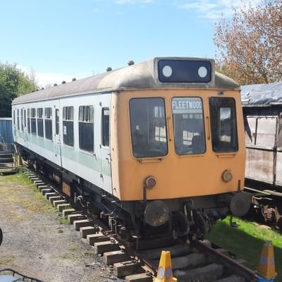
POLYGON ((101 165, 103 189, 112 192, 111 186, 111 150, 110 150, 110 109, 111 94, 104 94, 100 99, 101 107, 101 165))

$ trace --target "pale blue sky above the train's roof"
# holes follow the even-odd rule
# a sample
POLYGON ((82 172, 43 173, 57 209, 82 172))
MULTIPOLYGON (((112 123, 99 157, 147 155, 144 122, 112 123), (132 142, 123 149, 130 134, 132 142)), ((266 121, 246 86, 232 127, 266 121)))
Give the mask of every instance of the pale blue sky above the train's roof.
POLYGON ((231 0, 1 1, 0 61, 33 68, 39 85, 154 56, 214 58, 214 23, 231 0))

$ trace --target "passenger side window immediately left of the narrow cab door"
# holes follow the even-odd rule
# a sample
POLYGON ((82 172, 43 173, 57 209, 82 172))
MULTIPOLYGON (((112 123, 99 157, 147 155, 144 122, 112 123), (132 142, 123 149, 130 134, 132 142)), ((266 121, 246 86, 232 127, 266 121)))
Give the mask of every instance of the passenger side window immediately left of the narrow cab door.
POLYGON ((79 145, 80 149, 94 152, 94 107, 79 107, 79 145))

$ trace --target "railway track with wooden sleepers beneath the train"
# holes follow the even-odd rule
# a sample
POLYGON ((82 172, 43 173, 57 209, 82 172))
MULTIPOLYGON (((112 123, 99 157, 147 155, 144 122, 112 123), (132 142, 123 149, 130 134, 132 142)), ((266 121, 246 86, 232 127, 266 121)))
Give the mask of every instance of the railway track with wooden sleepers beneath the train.
POLYGON ((42 195, 63 216, 68 216, 68 221, 75 230, 80 231, 82 238, 93 245, 94 252, 103 255, 104 262, 112 266, 114 274, 118 278, 124 278, 126 282, 149 282, 156 278, 162 250, 171 252, 173 276, 180 282, 256 281, 255 271, 248 269, 245 262, 232 259, 226 250, 215 249, 209 241, 183 242, 173 238, 137 240, 133 243, 123 241, 93 214, 90 216, 85 211, 73 209, 74 203, 69 204, 60 195, 59 189, 53 183, 48 183, 44 176, 27 167, 23 171, 42 195))

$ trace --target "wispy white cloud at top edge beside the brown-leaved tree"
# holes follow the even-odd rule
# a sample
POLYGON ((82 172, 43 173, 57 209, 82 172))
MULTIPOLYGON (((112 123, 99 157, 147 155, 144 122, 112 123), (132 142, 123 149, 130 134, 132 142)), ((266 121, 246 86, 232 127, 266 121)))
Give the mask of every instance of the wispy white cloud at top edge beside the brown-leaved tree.
POLYGON ((179 8, 192 10, 199 14, 200 18, 219 20, 221 16, 228 18, 233 14, 234 8, 242 8, 244 4, 257 5, 259 0, 199 0, 189 1, 187 4, 178 5, 179 8))

